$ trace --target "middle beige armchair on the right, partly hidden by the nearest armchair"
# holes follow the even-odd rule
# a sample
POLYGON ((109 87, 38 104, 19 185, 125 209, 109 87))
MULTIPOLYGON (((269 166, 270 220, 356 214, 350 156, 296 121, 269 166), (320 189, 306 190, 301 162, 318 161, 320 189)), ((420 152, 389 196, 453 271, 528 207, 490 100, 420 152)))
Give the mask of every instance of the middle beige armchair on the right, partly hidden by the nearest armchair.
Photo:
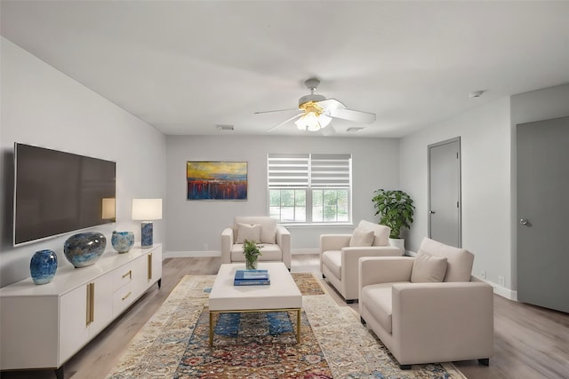
POLYGON ((362 220, 352 234, 320 235, 320 272, 346 303, 357 300, 360 257, 403 255, 401 249, 389 246, 390 231, 388 226, 362 220))

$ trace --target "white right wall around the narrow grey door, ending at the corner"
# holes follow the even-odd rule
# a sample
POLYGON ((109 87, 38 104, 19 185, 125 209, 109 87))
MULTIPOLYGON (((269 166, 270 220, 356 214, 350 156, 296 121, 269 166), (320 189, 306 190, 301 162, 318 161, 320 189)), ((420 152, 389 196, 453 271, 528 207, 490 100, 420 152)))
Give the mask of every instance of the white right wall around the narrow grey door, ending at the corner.
POLYGON ((462 247, 475 254, 473 273, 498 276, 511 288, 509 98, 493 101, 401 139, 401 186, 413 196, 415 220, 407 249, 428 235, 430 144, 461 137, 462 247))

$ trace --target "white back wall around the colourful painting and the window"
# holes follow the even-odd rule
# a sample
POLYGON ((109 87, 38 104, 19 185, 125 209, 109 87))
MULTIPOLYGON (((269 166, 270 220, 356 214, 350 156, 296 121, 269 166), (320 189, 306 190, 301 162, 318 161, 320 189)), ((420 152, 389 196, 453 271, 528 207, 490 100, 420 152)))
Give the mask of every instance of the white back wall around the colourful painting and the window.
MULTIPOLYGON (((397 188, 398 140, 330 137, 169 136, 167 146, 168 230, 172 255, 216 255, 221 231, 238 215, 267 215, 268 153, 349 153, 353 167, 355 222, 377 221, 373 191, 397 188), (248 162, 247 201, 187 201, 187 161, 248 162), (189 253, 191 252, 191 253, 189 253)), ((290 226, 293 252, 317 249, 321 233, 351 233, 351 226, 290 226)))

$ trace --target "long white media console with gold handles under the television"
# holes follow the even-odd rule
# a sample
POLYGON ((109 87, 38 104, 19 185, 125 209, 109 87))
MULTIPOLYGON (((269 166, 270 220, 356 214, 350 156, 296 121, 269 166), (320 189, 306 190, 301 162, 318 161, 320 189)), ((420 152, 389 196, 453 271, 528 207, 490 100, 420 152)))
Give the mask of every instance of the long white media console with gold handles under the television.
POLYGON ((83 268, 64 265, 47 284, 28 278, 0 288, 0 369, 53 368, 63 378, 63 364, 161 280, 155 244, 108 250, 83 268))

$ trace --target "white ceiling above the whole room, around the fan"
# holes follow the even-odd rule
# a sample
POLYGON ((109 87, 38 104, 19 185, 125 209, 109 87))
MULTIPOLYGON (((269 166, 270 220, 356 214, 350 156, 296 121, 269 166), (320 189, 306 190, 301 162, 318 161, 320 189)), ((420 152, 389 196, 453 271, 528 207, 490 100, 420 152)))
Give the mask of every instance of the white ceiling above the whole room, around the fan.
MULTIPOLYGON (((377 114, 372 124, 333 120, 340 137, 397 138, 569 83, 569 1, 0 6, 2 36, 169 135, 265 135, 298 111, 254 112, 297 107, 311 76, 318 94, 377 114)), ((290 122, 270 134, 299 133, 290 122)))

